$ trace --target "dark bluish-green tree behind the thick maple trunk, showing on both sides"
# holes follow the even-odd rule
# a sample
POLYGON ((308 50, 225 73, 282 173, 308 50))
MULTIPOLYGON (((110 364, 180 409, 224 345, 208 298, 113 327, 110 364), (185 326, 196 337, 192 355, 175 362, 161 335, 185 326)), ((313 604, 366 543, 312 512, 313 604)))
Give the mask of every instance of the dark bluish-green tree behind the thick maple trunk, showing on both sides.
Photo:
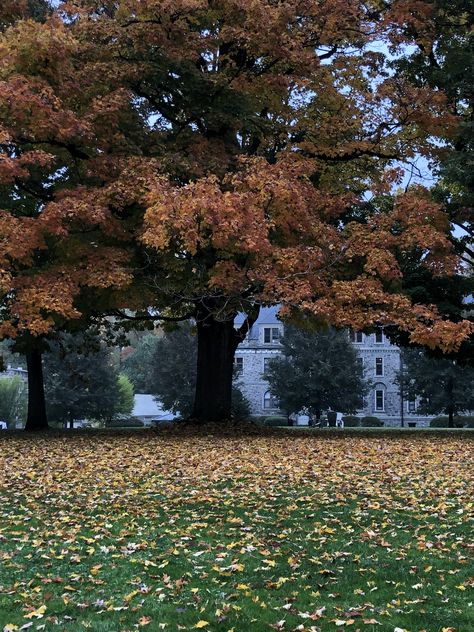
MULTIPOLYGON (((196 388, 196 328, 182 323, 156 342, 151 372, 151 393, 163 406, 182 417, 190 417, 196 388)), ((232 387, 232 416, 248 416, 250 408, 237 384, 232 387)))

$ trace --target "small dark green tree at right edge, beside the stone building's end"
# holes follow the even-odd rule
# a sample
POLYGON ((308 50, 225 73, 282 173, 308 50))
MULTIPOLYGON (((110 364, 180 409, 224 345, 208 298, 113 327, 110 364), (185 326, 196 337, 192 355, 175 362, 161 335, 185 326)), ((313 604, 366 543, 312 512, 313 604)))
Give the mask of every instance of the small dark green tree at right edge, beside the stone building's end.
POLYGON ((451 358, 434 358, 423 349, 405 349, 398 382, 406 396, 419 398, 418 412, 446 413, 449 427, 462 412, 474 410, 474 369, 451 358))

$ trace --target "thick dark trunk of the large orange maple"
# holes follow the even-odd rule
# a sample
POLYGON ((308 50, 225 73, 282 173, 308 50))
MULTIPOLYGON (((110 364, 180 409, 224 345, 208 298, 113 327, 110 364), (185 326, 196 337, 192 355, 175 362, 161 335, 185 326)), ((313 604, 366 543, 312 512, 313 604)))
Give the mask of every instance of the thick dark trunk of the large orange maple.
POLYGON ((198 423, 229 420, 234 354, 239 343, 234 318, 219 321, 210 311, 199 307, 196 321, 198 357, 191 418, 198 423))

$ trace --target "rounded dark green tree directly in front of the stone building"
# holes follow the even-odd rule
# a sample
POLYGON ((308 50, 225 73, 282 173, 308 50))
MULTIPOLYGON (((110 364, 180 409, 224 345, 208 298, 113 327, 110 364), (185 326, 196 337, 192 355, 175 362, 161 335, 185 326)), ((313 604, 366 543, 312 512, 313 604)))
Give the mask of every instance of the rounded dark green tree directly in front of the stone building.
POLYGON ((265 378, 288 415, 305 411, 319 420, 324 410, 363 407, 368 384, 346 332, 286 327, 281 343, 283 355, 269 362, 265 378))

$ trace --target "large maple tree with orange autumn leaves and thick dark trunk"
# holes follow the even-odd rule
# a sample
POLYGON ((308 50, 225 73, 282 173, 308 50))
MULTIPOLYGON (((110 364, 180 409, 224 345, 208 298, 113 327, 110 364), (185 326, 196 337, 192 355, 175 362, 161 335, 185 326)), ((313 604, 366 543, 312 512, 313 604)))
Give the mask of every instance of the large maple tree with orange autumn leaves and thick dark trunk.
POLYGON ((229 416, 234 351, 261 304, 459 345, 472 325, 413 304, 399 265, 421 249, 432 274, 454 271, 442 207, 422 189, 389 210, 367 202, 400 177, 395 161, 431 155, 456 123, 442 91, 388 69, 387 46, 402 54, 406 25, 430 11, 76 0, 8 28, 3 334, 45 335, 91 296, 104 313, 192 316, 198 420, 229 416))

